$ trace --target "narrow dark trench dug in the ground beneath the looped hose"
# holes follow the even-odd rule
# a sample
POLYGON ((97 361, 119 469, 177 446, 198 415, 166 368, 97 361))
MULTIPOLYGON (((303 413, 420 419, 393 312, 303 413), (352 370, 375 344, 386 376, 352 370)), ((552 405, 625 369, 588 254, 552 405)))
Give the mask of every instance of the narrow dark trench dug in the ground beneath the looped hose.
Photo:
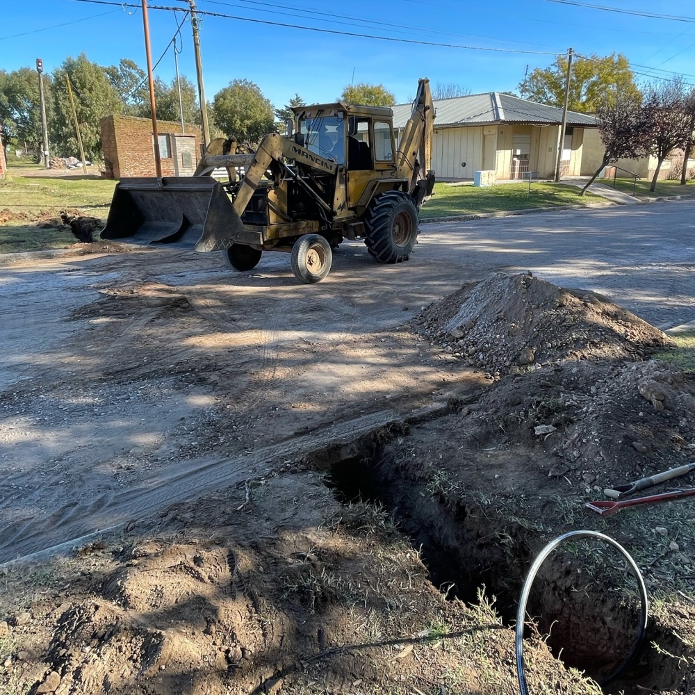
MULTIPOLYGON (((542 544, 532 550, 528 531, 518 523, 491 521, 476 509, 427 495, 424 486, 404 481, 395 472, 393 457, 374 442, 372 437, 350 450, 325 450, 313 464, 327 471, 326 484, 338 501, 383 505, 420 551, 435 587, 468 605, 477 603, 484 587, 488 599, 496 597, 502 621, 513 627, 523 580, 542 544)), ((594 540, 576 543, 546 559, 534 581, 528 614, 559 660, 601 682, 623 664, 635 643, 637 582, 610 546, 594 540)), ((639 653, 604 691, 681 692, 689 676, 664 651, 682 655, 684 648, 677 635, 650 619, 639 653)))

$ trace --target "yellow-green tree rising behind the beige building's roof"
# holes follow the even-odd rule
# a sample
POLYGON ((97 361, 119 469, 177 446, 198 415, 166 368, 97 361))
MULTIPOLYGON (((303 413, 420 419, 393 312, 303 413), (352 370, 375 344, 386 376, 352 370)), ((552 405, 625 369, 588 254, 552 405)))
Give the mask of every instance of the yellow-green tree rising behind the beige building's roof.
MULTIPOLYGON (((524 99, 562 108, 566 74, 567 56, 557 56, 553 65, 535 68, 528 78, 519 83, 519 92, 524 99)), ((575 57, 569 90, 570 111, 593 113, 603 95, 616 91, 635 97, 639 94, 630 63, 623 54, 613 53, 604 58, 596 54, 590 58, 575 57)))

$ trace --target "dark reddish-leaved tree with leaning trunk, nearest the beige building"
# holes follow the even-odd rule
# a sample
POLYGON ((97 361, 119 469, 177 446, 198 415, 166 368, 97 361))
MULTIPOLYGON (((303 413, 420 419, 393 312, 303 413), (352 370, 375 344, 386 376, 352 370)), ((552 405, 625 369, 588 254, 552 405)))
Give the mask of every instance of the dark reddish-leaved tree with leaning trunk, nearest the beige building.
POLYGON ((648 149, 649 123, 642 108, 641 98, 630 92, 605 95, 596 109, 596 122, 605 153, 600 167, 582 188, 581 195, 605 167, 619 159, 637 159, 648 149))

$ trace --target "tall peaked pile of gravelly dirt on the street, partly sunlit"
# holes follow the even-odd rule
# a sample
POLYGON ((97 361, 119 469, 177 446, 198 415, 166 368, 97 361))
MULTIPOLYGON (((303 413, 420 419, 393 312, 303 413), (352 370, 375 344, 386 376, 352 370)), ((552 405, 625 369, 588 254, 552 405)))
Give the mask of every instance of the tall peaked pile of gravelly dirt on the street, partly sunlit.
POLYGON ((412 325, 432 345, 494 375, 559 359, 641 359, 669 344, 605 297, 559 288, 530 272, 466 284, 412 325))

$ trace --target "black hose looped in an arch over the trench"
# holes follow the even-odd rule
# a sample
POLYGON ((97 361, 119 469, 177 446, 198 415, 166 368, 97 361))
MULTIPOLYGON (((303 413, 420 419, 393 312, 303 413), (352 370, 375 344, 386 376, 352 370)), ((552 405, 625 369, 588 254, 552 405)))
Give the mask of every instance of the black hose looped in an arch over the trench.
POLYGON ((632 557, 630 557, 630 553, 628 553, 628 551, 625 548, 623 548, 623 546, 621 546, 620 543, 614 541, 612 538, 606 536, 603 533, 599 533, 598 531, 571 531, 569 533, 563 534, 562 536, 557 537, 554 541, 550 541, 550 543, 548 543, 548 545, 545 548, 543 548, 543 550, 541 550, 538 557, 534 560, 531 569, 528 571, 528 575, 526 575, 526 579, 524 580, 523 587, 521 589, 521 598, 519 598, 519 606, 516 612, 516 670, 518 672, 519 690, 521 691, 521 695, 528 695, 526 675, 524 673, 523 666, 523 628, 524 616, 526 614, 526 604, 528 603, 528 597, 531 593, 533 580, 536 578, 536 575, 539 569, 541 569, 541 565, 543 564, 543 562, 545 562, 546 557, 548 557, 548 555, 550 555, 550 553, 552 553, 553 550, 555 550, 555 548, 557 548, 557 546, 560 545, 560 543, 564 543, 564 541, 566 541, 569 538, 598 538, 601 541, 609 543, 611 546, 619 550, 626 557, 628 563, 630 564, 630 568, 632 569, 632 573, 635 575, 635 579, 637 579, 637 588, 639 590, 639 600, 641 603, 639 626, 637 627, 637 639, 635 640, 635 644, 632 646, 632 650, 630 651, 630 654, 628 654, 626 660, 624 660, 623 663, 613 673, 610 674, 610 676, 601 681, 600 685, 605 685, 606 683, 619 676, 620 673, 622 673, 623 669, 625 669, 628 666, 628 664, 630 664, 632 659, 635 657, 635 654, 637 654, 637 650, 641 646, 642 640, 644 639, 644 634, 646 632, 647 627, 648 613, 647 590, 644 586, 644 580, 642 579, 642 575, 639 572, 639 567, 637 567, 635 560, 633 560, 632 557))

